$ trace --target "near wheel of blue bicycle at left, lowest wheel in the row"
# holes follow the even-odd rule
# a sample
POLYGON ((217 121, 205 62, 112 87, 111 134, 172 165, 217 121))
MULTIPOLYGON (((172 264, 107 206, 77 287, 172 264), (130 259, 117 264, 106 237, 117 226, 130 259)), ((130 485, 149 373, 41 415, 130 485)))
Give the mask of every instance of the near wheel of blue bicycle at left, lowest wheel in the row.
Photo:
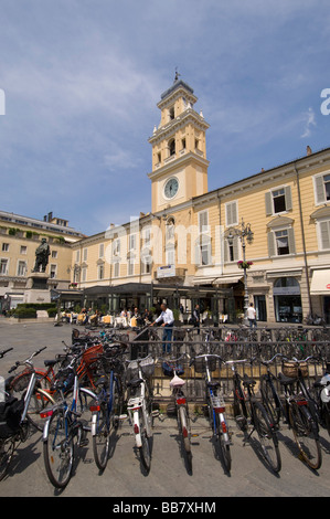
POLYGON ((74 462, 74 443, 63 410, 56 410, 49 419, 47 437, 43 443, 43 456, 46 474, 56 488, 68 484, 74 462))

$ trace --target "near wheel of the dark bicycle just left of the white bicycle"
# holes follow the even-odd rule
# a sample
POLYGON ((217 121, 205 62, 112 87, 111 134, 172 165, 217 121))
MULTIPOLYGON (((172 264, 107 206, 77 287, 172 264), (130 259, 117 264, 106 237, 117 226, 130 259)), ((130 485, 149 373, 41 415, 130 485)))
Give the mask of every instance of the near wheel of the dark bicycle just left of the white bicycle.
POLYGON ((93 434, 94 459, 99 470, 104 470, 108 463, 110 447, 109 417, 105 402, 102 402, 99 411, 94 413, 92 423, 95 427, 95 434, 93 434))

